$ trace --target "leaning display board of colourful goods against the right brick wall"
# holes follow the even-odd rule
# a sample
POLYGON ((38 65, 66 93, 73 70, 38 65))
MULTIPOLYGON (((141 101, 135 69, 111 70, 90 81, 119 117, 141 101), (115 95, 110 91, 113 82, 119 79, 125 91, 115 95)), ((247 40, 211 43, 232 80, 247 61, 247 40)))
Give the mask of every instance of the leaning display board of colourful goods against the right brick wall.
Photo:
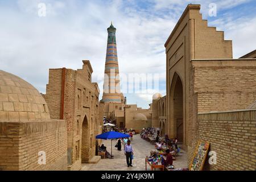
POLYGON ((202 171, 205 159, 207 158, 210 142, 199 140, 195 154, 189 166, 189 171, 202 171))

